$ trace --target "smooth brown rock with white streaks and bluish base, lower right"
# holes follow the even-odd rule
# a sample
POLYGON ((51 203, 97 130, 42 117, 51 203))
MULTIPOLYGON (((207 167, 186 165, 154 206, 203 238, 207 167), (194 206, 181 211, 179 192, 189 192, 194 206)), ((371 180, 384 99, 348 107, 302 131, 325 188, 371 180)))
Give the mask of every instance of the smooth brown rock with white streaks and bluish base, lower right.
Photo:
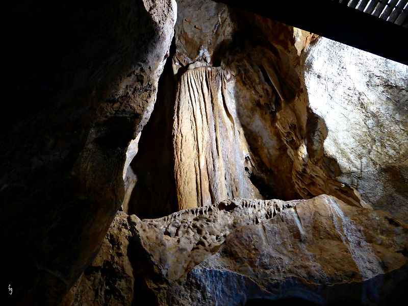
POLYGON ((407 234, 407 227, 385 212, 318 196, 271 220, 237 228, 173 287, 174 299, 201 305, 239 305, 255 298, 392 304, 402 297, 408 275, 407 234))

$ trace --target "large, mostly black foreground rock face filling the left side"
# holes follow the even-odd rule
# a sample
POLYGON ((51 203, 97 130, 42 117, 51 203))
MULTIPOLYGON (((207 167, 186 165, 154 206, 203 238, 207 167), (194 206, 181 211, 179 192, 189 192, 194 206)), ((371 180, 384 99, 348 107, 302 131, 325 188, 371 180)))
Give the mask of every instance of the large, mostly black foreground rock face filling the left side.
POLYGON ((12 302, 58 304, 98 252, 175 12, 172 0, 2 7, 0 269, 12 302))

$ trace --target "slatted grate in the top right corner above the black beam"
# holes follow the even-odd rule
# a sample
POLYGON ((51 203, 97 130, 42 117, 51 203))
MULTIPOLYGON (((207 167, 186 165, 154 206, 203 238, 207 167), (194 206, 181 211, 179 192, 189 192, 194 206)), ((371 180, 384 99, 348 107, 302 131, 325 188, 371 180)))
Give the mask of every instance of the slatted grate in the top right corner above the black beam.
POLYGON ((403 25, 408 21, 408 0, 332 0, 381 19, 403 25))

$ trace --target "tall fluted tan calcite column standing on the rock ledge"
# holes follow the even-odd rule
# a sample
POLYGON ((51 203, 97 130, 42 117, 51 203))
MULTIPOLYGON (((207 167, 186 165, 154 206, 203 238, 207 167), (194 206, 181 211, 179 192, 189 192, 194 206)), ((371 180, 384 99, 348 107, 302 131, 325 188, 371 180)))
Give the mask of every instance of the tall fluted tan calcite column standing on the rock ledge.
POLYGON ((261 197, 249 179, 248 145, 221 68, 202 66, 182 75, 173 137, 179 209, 261 197))

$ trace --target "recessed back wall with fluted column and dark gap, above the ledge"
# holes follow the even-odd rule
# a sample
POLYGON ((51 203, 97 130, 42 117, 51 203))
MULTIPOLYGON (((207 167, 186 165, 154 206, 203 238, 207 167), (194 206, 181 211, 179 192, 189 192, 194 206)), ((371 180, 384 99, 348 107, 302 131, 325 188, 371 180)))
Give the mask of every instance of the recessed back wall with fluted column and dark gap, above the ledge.
MULTIPOLYGON (((323 144, 309 144, 317 117, 308 107, 302 52, 316 36, 208 0, 178 5, 172 71, 162 87, 169 94, 155 120, 167 126, 163 141, 154 141, 166 153, 151 153, 159 131, 152 127, 145 155, 131 164, 140 184, 127 211, 159 217, 235 196, 290 200, 322 193, 366 206, 355 188, 322 166, 323 144)), ((335 160, 330 167, 338 168, 335 160)))

